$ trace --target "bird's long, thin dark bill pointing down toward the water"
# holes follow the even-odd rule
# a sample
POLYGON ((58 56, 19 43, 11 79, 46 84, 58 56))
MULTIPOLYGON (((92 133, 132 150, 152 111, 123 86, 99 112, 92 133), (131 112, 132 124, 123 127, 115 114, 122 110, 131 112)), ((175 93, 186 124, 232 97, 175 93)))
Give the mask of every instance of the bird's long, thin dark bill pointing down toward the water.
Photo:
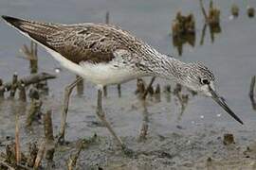
POLYGON ((219 104, 224 110, 226 110, 230 116, 232 116, 236 121, 243 125, 243 121, 239 117, 237 117, 237 115, 235 115, 235 113, 232 110, 229 109, 229 106, 226 104, 225 100, 222 97, 220 97, 217 93, 215 93, 214 90, 210 88, 210 86, 209 89, 212 95, 212 99, 217 104, 219 104))

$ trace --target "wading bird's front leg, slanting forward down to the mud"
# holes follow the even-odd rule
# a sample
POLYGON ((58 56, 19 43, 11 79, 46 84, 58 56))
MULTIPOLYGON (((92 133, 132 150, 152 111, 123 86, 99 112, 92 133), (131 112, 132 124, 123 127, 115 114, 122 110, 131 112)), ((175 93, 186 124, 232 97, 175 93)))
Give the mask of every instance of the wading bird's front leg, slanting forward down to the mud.
POLYGON ((108 128, 108 130, 114 136, 114 138, 117 140, 119 145, 124 149, 125 144, 123 144, 123 142, 121 141, 119 136, 116 134, 114 129, 107 122, 106 117, 105 117, 105 112, 102 110, 102 91, 101 91, 101 89, 98 90, 98 101, 97 101, 97 111, 96 111, 96 113, 99 116, 99 118, 101 119, 101 122, 104 124, 104 126, 108 128))

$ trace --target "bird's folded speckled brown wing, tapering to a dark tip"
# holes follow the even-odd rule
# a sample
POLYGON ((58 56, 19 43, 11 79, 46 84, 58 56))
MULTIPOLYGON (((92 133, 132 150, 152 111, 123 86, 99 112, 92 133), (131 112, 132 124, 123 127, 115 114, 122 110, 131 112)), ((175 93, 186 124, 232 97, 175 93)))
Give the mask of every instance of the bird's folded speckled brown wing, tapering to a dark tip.
POLYGON ((57 51, 64 58, 75 63, 81 61, 108 62, 115 58, 113 53, 117 49, 131 51, 137 48, 135 45, 139 44, 136 43, 135 37, 130 36, 117 26, 95 24, 58 25, 32 22, 8 16, 3 18, 11 26, 15 26, 35 41, 57 51))

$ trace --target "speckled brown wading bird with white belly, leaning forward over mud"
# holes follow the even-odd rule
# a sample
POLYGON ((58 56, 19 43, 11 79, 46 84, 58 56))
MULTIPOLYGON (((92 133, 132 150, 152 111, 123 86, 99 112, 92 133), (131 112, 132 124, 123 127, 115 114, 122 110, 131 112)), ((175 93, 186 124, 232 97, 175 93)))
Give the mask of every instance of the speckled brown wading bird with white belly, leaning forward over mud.
POLYGON ((199 62, 185 63, 163 55, 118 26, 84 23, 62 25, 2 18, 20 33, 41 44, 64 68, 98 86, 97 115, 117 142, 125 148, 102 110, 102 87, 140 76, 172 79, 195 92, 213 98, 239 123, 214 89, 214 76, 199 62))

